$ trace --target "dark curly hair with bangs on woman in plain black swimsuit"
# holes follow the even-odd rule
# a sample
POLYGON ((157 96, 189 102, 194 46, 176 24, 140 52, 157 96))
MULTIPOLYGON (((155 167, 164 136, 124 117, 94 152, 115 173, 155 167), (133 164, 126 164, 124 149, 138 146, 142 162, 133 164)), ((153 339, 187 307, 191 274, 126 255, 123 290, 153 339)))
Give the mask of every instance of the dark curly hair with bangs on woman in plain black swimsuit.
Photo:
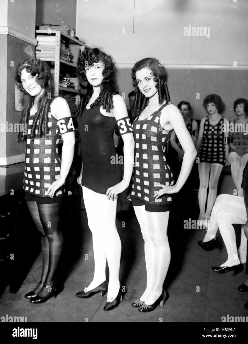
POLYGON ((89 103, 93 94, 93 87, 86 78, 85 67, 92 67, 97 62, 104 63, 103 80, 99 97, 96 98, 91 108, 99 104, 107 112, 113 109, 113 95, 119 94, 117 84, 117 68, 110 55, 105 54, 99 48, 86 47, 77 60, 77 76, 79 78, 80 105, 76 117, 81 116, 84 107, 89 103))

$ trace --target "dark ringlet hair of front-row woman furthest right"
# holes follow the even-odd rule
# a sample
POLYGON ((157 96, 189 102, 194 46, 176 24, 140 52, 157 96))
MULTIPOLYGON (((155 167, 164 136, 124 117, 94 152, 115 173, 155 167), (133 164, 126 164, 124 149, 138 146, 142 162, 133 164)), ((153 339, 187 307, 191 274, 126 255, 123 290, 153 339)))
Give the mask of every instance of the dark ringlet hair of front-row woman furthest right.
POLYGON ((153 73, 154 81, 157 83, 156 88, 158 88, 159 104, 163 104, 164 100, 171 100, 167 86, 168 74, 166 72, 166 69, 156 58, 143 58, 143 60, 136 62, 134 67, 132 68, 133 86, 136 92, 134 100, 134 114, 136 116, 140 115, 140 113, 144 110, 148 103, 148 98, 146 98, 138 88, 138 83, 135 75, 136 72, 140 71, 142 68, 149 68, 153 73))

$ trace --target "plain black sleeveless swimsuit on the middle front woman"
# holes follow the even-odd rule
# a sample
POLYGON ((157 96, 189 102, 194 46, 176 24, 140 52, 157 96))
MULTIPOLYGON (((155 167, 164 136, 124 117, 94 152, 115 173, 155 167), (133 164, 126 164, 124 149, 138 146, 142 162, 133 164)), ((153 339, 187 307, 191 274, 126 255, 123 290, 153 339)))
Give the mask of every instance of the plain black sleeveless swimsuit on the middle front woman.
POLYGON ((122 179, 121 165, 113 163, 116 156, 113 140, 115 117, 102 115, 100 105, 89 110, 85 106, 82 115, 77 117, 77 123, 83 159, 82 185, 105 194, 109 187, 122 179))

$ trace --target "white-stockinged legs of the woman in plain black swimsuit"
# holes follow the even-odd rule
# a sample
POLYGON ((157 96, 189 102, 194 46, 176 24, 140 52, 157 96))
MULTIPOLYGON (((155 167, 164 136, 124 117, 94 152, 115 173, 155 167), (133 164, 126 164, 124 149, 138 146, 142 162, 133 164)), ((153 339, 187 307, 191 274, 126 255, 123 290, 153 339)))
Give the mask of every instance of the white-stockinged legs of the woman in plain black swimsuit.
POLYGON ((83 186, 85 209, 92 232, 95 272, 87 290, 94 289, 105 277, 106 259, 109 266, 108 298, 116 298, 119 287, 121 260, 121 240, 118 235, 115 217, 117 198, 112 201, 104 194, 96 193, 83 186))

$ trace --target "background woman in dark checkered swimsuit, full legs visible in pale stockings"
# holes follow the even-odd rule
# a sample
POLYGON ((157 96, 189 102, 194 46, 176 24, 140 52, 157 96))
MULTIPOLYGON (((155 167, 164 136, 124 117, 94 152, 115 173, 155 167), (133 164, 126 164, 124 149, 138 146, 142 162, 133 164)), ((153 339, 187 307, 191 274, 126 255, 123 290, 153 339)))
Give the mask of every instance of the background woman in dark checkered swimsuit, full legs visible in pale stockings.
POLYGON ((200 178, 198 193, 199 220, 205 221, 210 219, 210 213, 217 195, 220 173, 223 166, 228 165, 226 157, 229 153, 229 134, 225 130, 227 119, 218 113, 221 104, 222 100, 217 94, 210 94, 204 98, 203 106, 208 112, 208 117, 204 117, 200 122, 199 136, 196 143, 200 178))

